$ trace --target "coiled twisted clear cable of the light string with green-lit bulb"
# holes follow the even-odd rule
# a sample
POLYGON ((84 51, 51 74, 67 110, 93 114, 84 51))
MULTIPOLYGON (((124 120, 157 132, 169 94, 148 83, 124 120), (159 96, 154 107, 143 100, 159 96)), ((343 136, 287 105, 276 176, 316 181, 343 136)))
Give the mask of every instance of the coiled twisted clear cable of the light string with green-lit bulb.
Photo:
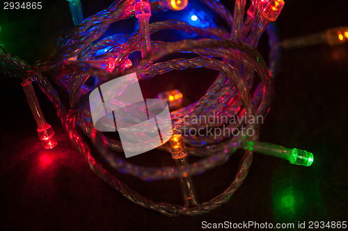
MULTIPOLYGON (((72 1, 70 1, 71 3, 72 1)), ((129 163, 113 151, 122 152, 123 147, 119 141, 113 141, 98 132, 91 122, 90 105, 88 94, 93 90, 87 86, 85 81, 90 77, 97 77, 103 83, 136 73, 139 79, 145 80, 156 74, 164 74, 171 70, 184 70, 187 67, 205 67, 219 70, 219 77, 207 90, 198 102, 191 104, 171 113, 173 124, 173 137, 176 137, 184 128, 205 127, 205 124, 191 124, 193 118, 198 116, 267 116, 274 97, 273 79, 271 73, 276 73, 280 54, 279 40, 274 25, 268 26, 270 22, 278 17, 284 1, 282 0, 254 0, 248 9, 248 17, 243 22, 245 1, 236 1, 235 15, 232 16, 219 1, 202 0, 207 6, 219 13, 232 30, 230 32, 222 28, 198 28, 184 22, 167 20, 148 24, 148 16, 152 13, 167 9, 180 10, 185 1, 160 1, 151 2, 144 0, 121 0, 113 3, 108 9, 97 15, 88 17, 79 23, 78 16, 73 12, 81 13, 80 10, 72 10, 74 24, 58 42, 56 54, 45 61, 39 61, 30 66, 13 54, 8 54, 1 47, 0 69, 10 77, 21 77, 24 82, 29 79, 36 81, 41 90, 49 97, 56 107, 58 118, 68 132, 68 136, 74 148, 77 148, 88 164, 98 176, 120 191, 136 205, 154 209, 167 216, 196 216, 205 214, 230 199, 244 181, 253 159, 253 150, 269 154, 275 157, 288 159, 292 164, 310 166, 313 162, 313 154, 310 152, 287 149, 277 145, 258 142, 260 124, 237 123, 228 125, 228 129, 252 128, 253 136, 184 136, 187 147, 185 153, 204 157, 200 161, 187 165, 187 161, 177 163, 177 167, 145 168, 129 163), (150 6, 149 6, 150 5, 150 6), (143 15, 145 14, 145 15, 143 15), (113 35, 97 41, 104 34, 109 24, 120 19, 136 16, 141 25, 139 31, 134 35, 113 35), (161 42, 150 40, 150 34, 164 29, 185 31, 189 34, 197 34, 200 40, 182 40, 180 42, 161 42), (256 47, 263 31, 269 35, 270 47, 270 71, 256 47), (97 41, 97 42, 96 42, 97 41), (104 51, 98 53, 100 50, 104 51), (129 60, 129 54, 134 51, 142 51, 143 59, 137 63, 129 60), (157 63, 159 58, 173 53, 193 53, 196 58, 177 58, 174 60, 157 63), (221 61, 222 58, 223 61, 221 61), (56 90, 41 72, 54 71, 53 80, 58 86, 67 90, 70 97, 70 109, 67 112, 61 103, 56 90), (258 74, 261 82, 255 88, 253 95, 250 94, 254 82, 254 72, 258 74), (228 161, 231 154, 237 149, 244 148, 246 151, 242 158, 235 179, 228 189, 219 196, 208 202, 185 203, 186 207, 171 205, 165 202, 155 203, 148 198, 143 198, 139 193, 129 189, 126 184, 120 182, 116 177, 108 173, 102 165, 90 154, 88 145, 83 141, 77 129, 81 128, 95 145, 102 157, 108 161, 110 166, 116 168, 120 173, 134 175, 141 180, 161 180, 180 177, 182 182, 191 182, 184 177, 204 173, 206 170, 220 166, 228 161), (113 150, 113 151, 111 151, 113 150), (184 166, 184 167, 183 167, 184 166)), ((187 1, 186 1, 187 4, 187 1)), ((71 9, 71 7, 70 7, 71 9)), ((82 15, 82 13, 81 13, 82 15)), ((81 17, 82 19, 82 17, 81 17)), ((163 123, 163 121, 159 121, 163 123)), ((218 124, 219 125, 219 124, 218 124)), ((216 126, 218 126, 216 125, 216 126)), ((114 126, 104 121, 104 126, 114 126)), ((214 125, 212 125, 214 126, 214 125)), ((180 139, 182 139, 180 136, 180 139)), ((182 142, 181 142, 182 143, 182 142)), ((182 143, 183 144, 183 143, 182 143)), ((141 150, 144 145, 127 147, 130 151, 141 150)), ((168 144, 161 145, 161 150, 173 152, 168 144)), ((187 154, 184 157, 187 158, 187 154)), ((186 183, 186 186, 192 185, 186 183)), ((183 191, 186 190, 183 188, 183 191)), ((192 190, 194 190, 192 188, 192 190)), ((194 191, 191 191, 193 198, 194 191)), ((186 196, 184 196, 186 197, 186 196)), ((187 198, 187 197, 186 197, 187 198)))

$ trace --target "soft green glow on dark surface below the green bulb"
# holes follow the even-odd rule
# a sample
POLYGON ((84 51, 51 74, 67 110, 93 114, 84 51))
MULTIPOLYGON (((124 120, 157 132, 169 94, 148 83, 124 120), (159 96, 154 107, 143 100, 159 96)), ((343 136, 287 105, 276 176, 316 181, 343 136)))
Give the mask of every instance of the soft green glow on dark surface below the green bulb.
MULTIPOLYGON (((293 168, 283 162, 272 175, 272 201, 275 223, 330 221, 322 200, 322 160, 319 158, 311 168, 293 168)), ((295 228, 296 230, 296 228, 295 228)))

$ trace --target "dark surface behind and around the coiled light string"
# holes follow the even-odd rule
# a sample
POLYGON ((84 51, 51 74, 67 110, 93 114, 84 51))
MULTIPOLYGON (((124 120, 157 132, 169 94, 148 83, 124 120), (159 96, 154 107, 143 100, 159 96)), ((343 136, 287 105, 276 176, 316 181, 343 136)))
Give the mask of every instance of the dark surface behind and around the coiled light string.
MULTIPOLYGON (((234 1, 222 2, 233 8, 234 1)), ((84 17, 88 17, 112 1, 81 3, 84 17)), ((0 42, 29 64, 54 55, 58 38, 73 26, 67 1, 45 4, 31 16, 18 13, 18 20, 5 13, 1 5, 0 42)), ((348 26, 347 7, 346 0, 285 1, 277 20, 280 38, 348 26)), ((118 27, 134 31, 134 19, 111 26, 107 33, 113 34, 118 27)), ((260 50, 267 58, 266 36, 260 50)), ((132 204, 98 178, 72 149, 54 106, 33 83, 58 140, 56 148, 43 149, 21 80, 1 74, 1 230, 200 230, 202 221, 295 223, 295 227, 306 222, 308 228, 309 221, 348 221, 347 67, 348 43, 284 51, 274 82, 276 97, 261 128, 260 141, 313 152, 313 165, 294 166, 255 153, 246 180, 228 203, 203 216, 177 218, 132 204)), ((189 103, 203 96, 216 74, 184 70, 141 85, 145 97, 178 88, 186 97, 184 103, 189 103)), ((67 94, 60 93, 67 102, 67 94)), ((100 159, 94 151, 93 156, 100 159)), ((241 157, 237 153, 224 166, 193 177, 199 202, 228 187, 241 157)), ((144 166, 173 164, 168 154, 158 151, 129 160, 144 166)), ((142 182, 111 172, 155 202, 182 205, 178 180, 142 182)))

